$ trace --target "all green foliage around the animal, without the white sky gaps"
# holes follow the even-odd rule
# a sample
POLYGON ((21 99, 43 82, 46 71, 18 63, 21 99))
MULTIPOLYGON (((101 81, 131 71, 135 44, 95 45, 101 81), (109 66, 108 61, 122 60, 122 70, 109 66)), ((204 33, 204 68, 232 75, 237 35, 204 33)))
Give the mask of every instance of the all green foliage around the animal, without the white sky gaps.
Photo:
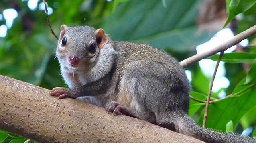
MULTIPOLYGON (((194 55, 195 46, 206 42, 214 34, 212 31, 198 34, 195 19, 203 0, 75 0, 72 4, 63 0, 46 2, 53 8, 49 19, 56 33, 59 33, 61 24, 86 25, 83 20, 86 18, 90 26, 103 28, 114 40, 150 44, 168 51, 179 60, 194 55)), ((254 0, 226 2, 229 13, 227 23, 238 13, 244 12, 242 19, 237 21, 236 32, 240 33, 256 23, 254 0)), ((45 12, 30 10, 27 3, 20 0, 0 1, 1 11, 15 8, 19 14, 8 29, 7 36, 0 38, 0 74, 48 89, 66 86, 60 76, 59 63, 54 53, 57 40, 49 30, 45 12)), ((4 20, 0 21, 0 25, 4 23, 4 20)), ((250 37, 249 42, 253 43, 254 38, 255 36, 250 37)), ((207 128, 225 131, 226 124, 232 121, 235 132, 241 133, 252 126, 253 135, 256 134, 256 49, 243 50, 242 53, 223 55, 230 87, 221 90, 227 95, 232 94, 232 97, 210 104, 207 128), (242 68, 244 64, 252 66, 247 76, 242 68)), ((213 55, 209 59, 217 60, 217 57, 218 55, 213 55)), ((202 73, 199 64, 188 69, 192 76, 191 96, 206 100, 210 79, 202 73)), ((219 92, 213 93, 211 99, 217 99, 219 92)), ((189 116, 199 124, 203 122, 204 107, 205 103, 190 101, 189 116)), ((16 139, 16 136, 0 131, 0 141, 10 139, 16 139)))

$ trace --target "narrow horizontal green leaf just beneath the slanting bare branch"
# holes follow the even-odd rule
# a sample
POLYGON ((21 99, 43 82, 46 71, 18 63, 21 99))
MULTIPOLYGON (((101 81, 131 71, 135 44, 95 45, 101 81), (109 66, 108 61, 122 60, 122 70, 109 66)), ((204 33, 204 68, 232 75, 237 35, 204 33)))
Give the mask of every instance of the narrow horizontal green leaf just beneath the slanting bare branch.
MULTIPOLYGON (((219 55, 212 55, 207 59, 211 59, 213 61, 218 60, 219 55)), ((225 53, 221 58, 221 61, 229 62, 229 63, 252 63, 256 58, 256 53, 225 53)))

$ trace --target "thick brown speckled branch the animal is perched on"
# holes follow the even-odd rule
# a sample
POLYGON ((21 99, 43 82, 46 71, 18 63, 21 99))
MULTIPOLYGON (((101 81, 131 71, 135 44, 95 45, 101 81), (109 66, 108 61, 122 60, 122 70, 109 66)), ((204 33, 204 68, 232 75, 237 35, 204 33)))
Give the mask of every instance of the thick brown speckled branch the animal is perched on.
POLYGON ((0 130, 40 143, 203 143, 76 99, 58 100, 48 91, 0 76, 0 130))

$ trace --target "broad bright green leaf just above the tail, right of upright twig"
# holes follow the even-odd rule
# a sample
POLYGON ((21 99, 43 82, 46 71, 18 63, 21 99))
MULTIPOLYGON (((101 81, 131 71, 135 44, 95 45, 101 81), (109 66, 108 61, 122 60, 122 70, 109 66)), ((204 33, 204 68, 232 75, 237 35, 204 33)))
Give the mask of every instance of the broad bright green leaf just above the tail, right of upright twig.
POLYGON ((233 97, 210 104, 207 128, 225 131, 226 124, 230 120, 232 120, 233 126, 236 126, 242 116, 256 106, 256 88, 253 85, 243 86, 244 81, 245 79, 238 84, 237 89, 234 89, 233 97))

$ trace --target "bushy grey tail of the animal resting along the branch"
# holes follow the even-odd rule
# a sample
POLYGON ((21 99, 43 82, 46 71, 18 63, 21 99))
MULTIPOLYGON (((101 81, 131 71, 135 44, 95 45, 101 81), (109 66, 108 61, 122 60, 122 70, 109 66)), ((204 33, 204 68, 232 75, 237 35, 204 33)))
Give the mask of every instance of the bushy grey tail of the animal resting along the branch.
MULTIPOLYGON (((229 132, 220 133, 198 126, 195 121, 185 113, 182 115, 180 112, 179 114, 171 114, 171 121, 169 122, 172 122, 173 125, 169 127, 171 130, 174 129, 176 132, 189 135, 207 143, 256 143, 255 137, 244 137, 229 132)), ((160 122, 160 126, 161 124, 165 126, 166 122, 160 122)))

